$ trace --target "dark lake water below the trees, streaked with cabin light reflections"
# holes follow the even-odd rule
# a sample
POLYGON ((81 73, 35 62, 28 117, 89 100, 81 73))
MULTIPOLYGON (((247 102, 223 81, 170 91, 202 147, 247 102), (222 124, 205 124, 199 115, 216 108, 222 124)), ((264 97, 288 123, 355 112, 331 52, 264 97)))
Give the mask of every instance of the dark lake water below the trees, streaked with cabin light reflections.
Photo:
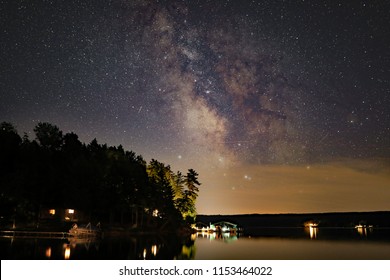
POLYGON ((191 259, 191 237, 140 235, 100 239, 0 237, 2 259, 191 259), (11 241, 11 242, 10 242, 11 241))

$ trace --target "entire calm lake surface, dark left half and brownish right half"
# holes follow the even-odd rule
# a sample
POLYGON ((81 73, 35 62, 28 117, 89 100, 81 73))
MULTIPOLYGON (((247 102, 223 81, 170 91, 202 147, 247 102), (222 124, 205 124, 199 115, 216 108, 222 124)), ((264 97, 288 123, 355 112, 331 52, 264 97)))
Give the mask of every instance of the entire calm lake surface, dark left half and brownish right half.
POLYGON ((0 238, 1 259, 387 259, 390 229, 251 229, 251 235, 0 238))

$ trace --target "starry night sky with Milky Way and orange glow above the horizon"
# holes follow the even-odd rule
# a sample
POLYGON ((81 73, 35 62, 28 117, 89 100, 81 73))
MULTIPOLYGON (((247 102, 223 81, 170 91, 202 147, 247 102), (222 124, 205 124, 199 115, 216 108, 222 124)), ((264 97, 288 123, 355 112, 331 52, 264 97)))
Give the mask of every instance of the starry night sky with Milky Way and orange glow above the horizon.
POLYGON ((390 210, 388 1, 0 1, 0 121, 122 144, 199 213, 390 210))

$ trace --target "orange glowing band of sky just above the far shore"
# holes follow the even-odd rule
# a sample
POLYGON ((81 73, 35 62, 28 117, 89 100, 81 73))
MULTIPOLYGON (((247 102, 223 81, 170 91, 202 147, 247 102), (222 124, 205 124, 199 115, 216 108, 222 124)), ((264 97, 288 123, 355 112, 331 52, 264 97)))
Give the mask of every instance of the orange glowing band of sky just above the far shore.
POLYGON ((199 171, 199 214, 390 211, 390 165, 376 160, 217 171, 199 171))

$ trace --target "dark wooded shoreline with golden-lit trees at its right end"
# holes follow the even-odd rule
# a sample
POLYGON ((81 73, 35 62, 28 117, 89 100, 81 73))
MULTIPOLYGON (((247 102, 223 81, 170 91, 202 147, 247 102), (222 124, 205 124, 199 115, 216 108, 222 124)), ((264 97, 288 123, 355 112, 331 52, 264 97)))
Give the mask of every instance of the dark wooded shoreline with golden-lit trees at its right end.
POLYGON ((35 139, 0 125, 0 215, 39 222, 43 208, 73 208, 92 221, 134 228, 178 228, 194 223, 200 183, 195 170, 174 172, 121 145, 82 143, 73 133, 41 122, 35 139))

